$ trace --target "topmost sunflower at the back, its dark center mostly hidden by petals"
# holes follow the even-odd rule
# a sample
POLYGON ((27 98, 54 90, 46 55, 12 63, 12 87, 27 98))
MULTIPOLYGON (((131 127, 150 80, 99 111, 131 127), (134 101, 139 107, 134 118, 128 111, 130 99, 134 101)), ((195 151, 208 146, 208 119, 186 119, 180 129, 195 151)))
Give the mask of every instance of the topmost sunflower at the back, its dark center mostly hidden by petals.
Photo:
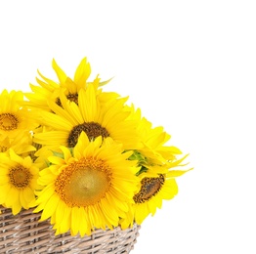
MULTIPOLYGON (((47 101, 52 100, 59 106, 62 106, 60 100, 60 94, 64 93, 67 100, 77 104, 78 92, 80 89, 85 89, 89 84, 93 84, 96 88, 103 86, 109 82, 109 80, 100 82, 99 75, 94 79, 93 82, 87 81, 91 74, 90 63, 84 58, 76 68, 73 79, 68 77, 64 70, 56 63, 55 60, 52 62, 52 66, 58 76, 59 82, 55 82, 45 76, 39 71, 38 74, 41 79, 36 78, 39 86, 30 84, 32 93, 25 93, 25 97, 29 100, 26 105, 49 110, 47 101)), ((117 97, 115 93, 106 93, 109 97, 117 97)))

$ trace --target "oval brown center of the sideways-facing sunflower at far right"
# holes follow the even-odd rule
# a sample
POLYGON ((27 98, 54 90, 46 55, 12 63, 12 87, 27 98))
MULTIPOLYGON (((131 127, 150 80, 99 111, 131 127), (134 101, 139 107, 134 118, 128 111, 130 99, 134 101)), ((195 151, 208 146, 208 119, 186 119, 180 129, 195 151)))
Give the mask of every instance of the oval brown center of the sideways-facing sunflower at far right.
POLYGON ((159 175, 157 178, 146 177, 141 181, 141 190, 134 195, 136 203, 144 203, 161 190, 164 184, 164 176, 159 175))

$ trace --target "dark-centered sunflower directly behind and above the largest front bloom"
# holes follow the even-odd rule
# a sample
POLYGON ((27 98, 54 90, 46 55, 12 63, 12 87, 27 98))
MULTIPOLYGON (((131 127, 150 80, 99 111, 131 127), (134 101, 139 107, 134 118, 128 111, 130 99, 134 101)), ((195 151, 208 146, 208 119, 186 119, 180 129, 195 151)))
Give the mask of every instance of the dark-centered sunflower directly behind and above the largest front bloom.
POLYGON ((136 134, 136 122, 128 120, 129 112, 125 111, 126 99, 111 100, 105 105, 99 103, 93 85, 81 89, 78 93, 78 105, 61 97, 62 105, 49 102, 53 112, 42 111, 42 125, 52 128, 51 131, 35 134, 34 141, 44 146, 75 147, 78 137, 84 131, 90 140, 102 136, 111 137, 123 144, 124 148, 139 148, 136 134))

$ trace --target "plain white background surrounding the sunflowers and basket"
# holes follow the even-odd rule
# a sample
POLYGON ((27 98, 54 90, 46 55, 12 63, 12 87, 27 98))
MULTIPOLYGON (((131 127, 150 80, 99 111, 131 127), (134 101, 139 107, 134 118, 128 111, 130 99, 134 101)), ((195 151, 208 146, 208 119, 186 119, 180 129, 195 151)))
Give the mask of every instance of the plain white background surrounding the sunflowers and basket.
POLYGON ((133 254, 256 253, 255 1, 1 1, 0 88, 28 91, 83 57, 194 170, 133 254))

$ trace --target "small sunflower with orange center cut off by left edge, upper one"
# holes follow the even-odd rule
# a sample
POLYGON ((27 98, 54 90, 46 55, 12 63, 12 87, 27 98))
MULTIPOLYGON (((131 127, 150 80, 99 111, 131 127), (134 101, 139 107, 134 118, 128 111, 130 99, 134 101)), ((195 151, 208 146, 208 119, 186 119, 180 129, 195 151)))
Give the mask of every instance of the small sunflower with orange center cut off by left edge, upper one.
POLYGON ((37 126, 27 108, 21 106, 23 94, 20 91, 3 90, 0 94, 0 141, 15 139, 20 133, 33 130, 37 126))

